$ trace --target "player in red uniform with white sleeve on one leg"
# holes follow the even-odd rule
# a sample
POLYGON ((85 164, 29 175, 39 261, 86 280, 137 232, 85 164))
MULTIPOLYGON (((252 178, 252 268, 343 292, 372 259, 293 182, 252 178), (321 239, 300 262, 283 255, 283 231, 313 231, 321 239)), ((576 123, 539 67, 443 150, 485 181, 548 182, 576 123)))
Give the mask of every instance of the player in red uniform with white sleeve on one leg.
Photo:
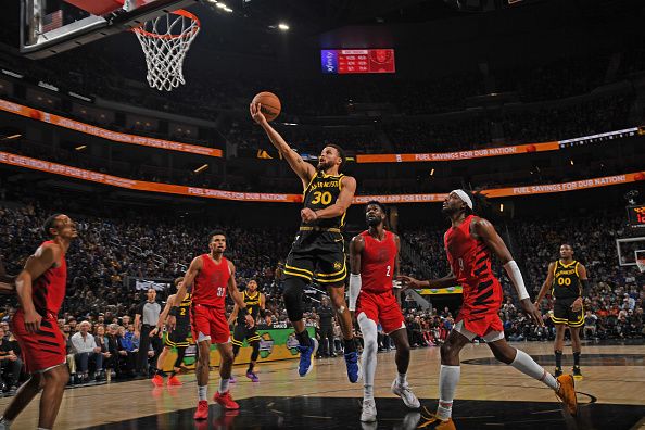
POLYGON ((399 375, 392 382, 392 392, 407 407, 418 408, 419 401, 407 383, 409 365, 409 342, 399 302, 392 291, 394 276, 399 275, 399 236, 383 228, 385 206, 377 201, 367 203, 365 219, 368 229, 352 239, 350 245, 350 311, 356 311, 365 347, 363 362, 363 412, 361 420, 376 421, 374 401, 374 378, 377 365, 378 329, 390 336, 396 346, 396 369, 399 375))

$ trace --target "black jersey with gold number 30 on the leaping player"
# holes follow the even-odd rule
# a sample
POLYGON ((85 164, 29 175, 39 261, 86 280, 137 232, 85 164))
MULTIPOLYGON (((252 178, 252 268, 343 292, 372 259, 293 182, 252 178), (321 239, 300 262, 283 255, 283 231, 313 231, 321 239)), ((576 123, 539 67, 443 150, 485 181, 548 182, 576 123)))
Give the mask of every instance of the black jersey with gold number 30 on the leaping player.
MULTIPOLYGON (((304 207, 320 211, 334 204, 342 189, 343 176, 343 174, 326 175, 324 172, 318 172, 304 190, 304 207)), ((318 227, 320 229, 339 229, 340 231, 344 224, 345 215, 343 214, 334 218, 316 219, 311 224, 303 223, 301 230, 307 227, 318 227)))

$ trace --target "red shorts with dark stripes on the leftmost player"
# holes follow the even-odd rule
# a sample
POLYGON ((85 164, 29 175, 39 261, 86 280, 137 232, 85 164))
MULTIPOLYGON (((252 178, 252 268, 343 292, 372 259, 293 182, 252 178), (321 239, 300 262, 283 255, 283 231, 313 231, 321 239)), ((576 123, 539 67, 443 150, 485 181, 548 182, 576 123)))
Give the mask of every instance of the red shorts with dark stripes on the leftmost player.
POLYGON ((12 332, 15 336, 27 374, 37 374, 66 362, 65 338, 59 329, 55 315, 42 315, 40 330, 29 333, 25 329, 25 314, 18 309, 11 321, 12 332))

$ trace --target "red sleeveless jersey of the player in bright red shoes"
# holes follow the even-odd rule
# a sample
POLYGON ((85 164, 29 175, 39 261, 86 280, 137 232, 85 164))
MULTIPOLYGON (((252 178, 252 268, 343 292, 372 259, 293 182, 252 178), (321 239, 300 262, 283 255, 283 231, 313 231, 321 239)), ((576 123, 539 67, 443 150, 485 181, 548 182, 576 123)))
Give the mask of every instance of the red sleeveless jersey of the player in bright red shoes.
POLYGON ((210 254, 203 254, 201 257, 202 269, 194 278, 192 304, 224 309, 228 280, 230 279, 228 260, 222 257, 222 262, 217 264, 210 254))

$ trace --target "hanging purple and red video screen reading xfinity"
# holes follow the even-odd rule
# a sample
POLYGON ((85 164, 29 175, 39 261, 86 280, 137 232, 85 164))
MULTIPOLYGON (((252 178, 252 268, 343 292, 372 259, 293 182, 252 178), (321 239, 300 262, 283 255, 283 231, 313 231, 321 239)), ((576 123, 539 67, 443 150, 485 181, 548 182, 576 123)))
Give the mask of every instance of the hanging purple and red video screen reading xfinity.
POLYGON ((393 49, 324 49, 320 51, 324 74, 394 73, 393 49))

